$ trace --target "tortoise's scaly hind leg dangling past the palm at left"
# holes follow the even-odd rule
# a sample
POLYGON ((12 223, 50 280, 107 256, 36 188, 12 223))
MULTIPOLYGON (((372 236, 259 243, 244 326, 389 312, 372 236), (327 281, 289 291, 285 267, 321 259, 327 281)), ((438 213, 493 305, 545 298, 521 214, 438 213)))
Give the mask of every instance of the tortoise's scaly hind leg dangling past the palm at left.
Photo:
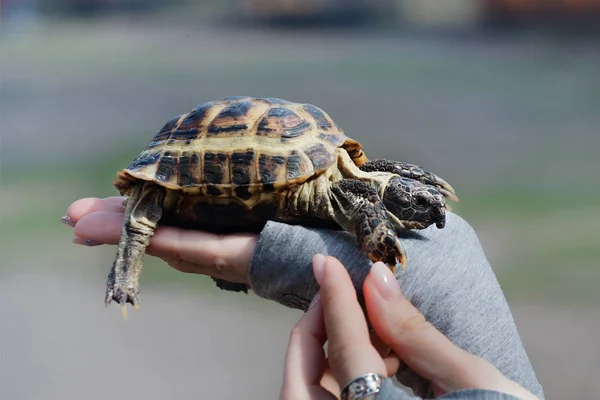
POLYGON ((163 188, 142 183, 127 199, 121 239, 108 275, 104 299, 106 306, 112 300, 121 304, 124 317, 127 315, 126 303, 131 303, 136 310, 139 308, 144 252, 162 216, 164 196, 163 188))

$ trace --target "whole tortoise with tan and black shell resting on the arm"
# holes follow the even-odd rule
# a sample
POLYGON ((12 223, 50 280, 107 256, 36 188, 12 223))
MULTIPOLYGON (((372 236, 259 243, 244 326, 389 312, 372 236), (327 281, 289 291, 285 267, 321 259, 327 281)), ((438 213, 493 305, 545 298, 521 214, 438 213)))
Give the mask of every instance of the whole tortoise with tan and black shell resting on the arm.
MULTIPOLYGON (((397 232, 445 224, 446 181, 421 167, 370 161, 322 109, 277 98, 227 97, 169 120, 114 186, 125 219, 105 303, 137 310, 143 255, 162 225, 260 232, 268 220, 350 232, 393 272, 397 232)), ((215 279, 226 290, 245 284, 215 279)))

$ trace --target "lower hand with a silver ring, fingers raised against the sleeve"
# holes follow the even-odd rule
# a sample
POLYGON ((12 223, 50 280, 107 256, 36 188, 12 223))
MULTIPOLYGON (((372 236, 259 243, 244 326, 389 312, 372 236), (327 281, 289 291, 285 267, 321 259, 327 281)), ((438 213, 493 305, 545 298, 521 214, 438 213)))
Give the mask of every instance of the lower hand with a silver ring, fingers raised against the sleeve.
MULTIPOLYGON (((374 333, 392 353, 377 351, 344 266, 332 257, 315 256, 320 300, 300 319, 290 336, 281 397, 335 399, 340 388, 367 373, 392 376, 386 364, 402 360, 433 384, 437 395, 461 389, 487 389, 524 399, 532 393, 506 378, 488 361, 454 345, 400 292, 396 278, 375 263, 363 292, 374 333), (322 266, 321 266, 322 265, 322 266), (323 345, 329 342, 325 358, 323 345), (326 367, 330 366, 330 370, 326 367), (331 381, 334 381, 334 384, 331 381)), ((372 398, 372 397, 371 397, 372 398)))

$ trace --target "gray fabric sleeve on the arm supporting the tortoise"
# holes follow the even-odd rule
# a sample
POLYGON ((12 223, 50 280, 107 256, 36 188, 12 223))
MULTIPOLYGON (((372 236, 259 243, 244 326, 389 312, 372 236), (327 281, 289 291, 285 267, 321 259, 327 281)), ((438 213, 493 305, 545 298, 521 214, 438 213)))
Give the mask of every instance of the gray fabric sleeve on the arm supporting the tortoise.
MULTIPOLYGON (((397 278, 404 295, 452 342, 543 399, 502 289, 469 224, 448 213, 444 229, 408 231, 401 239, 408 267, 397 278)), ((361 295, 371 262, 350 234, 276 222, 261 233, 249 270, 252 289, 305 310, 318 291, 312 273, 316 253, 338 258, 361 295)), ((402 372, 397 378, 410 382, 402 372)))

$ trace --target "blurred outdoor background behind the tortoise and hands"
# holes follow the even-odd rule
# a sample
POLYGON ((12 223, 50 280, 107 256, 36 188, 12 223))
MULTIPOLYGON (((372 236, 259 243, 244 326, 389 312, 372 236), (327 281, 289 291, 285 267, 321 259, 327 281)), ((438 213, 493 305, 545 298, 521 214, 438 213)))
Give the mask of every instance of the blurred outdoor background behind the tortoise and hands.
POLYGON ((0 398, 276 398, 300 312, 149 259, 123 323, 114 248, 60 224, 230 95, 313 103, 450 181, 547 398, 598 398, 598 0, 2 0, 0 23, 0 398))

